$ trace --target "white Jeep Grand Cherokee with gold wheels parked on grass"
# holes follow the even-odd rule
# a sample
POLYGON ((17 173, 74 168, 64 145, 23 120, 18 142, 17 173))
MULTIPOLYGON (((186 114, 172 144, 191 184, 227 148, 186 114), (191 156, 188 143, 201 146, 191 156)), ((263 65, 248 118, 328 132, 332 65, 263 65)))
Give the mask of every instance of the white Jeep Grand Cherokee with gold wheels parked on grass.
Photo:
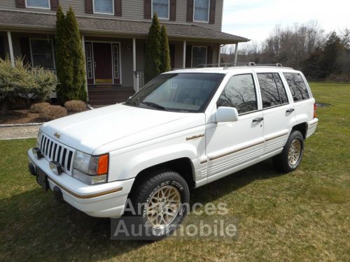
POLYGON ((190 187, 271 157, 295 170, 315 110, 304 75, 279 65, 171 71, 125 103, 43 124, 29 170, 94 217, 142 204, 140 223, 161 236, 188 211, 190 187))

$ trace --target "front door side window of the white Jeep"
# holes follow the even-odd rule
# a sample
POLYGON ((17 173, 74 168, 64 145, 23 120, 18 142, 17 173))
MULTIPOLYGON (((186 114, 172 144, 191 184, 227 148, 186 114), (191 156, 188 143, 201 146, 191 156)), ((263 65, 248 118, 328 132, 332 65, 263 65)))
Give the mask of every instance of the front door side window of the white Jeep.
POLYGON ((236 108, 239 114, 258 110, 253 75, 232 76, 216 105, 236 108))

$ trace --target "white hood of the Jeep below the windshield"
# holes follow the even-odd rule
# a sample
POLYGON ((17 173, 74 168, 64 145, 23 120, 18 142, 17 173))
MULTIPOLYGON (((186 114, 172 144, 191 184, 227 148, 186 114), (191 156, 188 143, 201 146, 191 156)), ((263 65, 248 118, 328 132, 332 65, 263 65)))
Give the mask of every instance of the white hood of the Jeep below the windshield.
MULTIPOLYGON (((179 121, 190 115, 192 114, 117 104, 56 119, 43 124, 41 131, 64 145, 93 154, 97 147, 156 126, 179 121), (54 136, 55 133, 59 134, 59 139, 54 136)), ((156 131, 155 136, 159 137, 170 132, 167 129, 161 130, 156 131)), ((145 138, 149 139, 151 138, 145 138)))

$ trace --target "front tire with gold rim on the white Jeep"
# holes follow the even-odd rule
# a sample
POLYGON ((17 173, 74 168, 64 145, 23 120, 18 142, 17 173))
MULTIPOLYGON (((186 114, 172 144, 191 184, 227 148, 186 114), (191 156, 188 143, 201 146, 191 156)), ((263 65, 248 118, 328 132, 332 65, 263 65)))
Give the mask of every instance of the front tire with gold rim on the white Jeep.
POLYGON ((142 207, 137 214, 139 224, 153 240, 165 238, 176 230, 188 212, 189 201, 186 180, 169 169, 150 173, 132 196, 134 207, 142 207))

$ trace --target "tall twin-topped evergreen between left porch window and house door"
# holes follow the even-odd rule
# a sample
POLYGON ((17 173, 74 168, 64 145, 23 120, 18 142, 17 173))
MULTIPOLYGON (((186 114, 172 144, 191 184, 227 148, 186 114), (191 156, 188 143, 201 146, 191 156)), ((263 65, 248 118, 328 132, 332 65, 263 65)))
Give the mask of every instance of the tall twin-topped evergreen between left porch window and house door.
POLYGON ((69 100, 86 101, 85 58, 78 22, 72 8, 69 8, 64 17, 59 6, 56 17, 56 70, 59 80, 57 99, 60 103, 69 100))

